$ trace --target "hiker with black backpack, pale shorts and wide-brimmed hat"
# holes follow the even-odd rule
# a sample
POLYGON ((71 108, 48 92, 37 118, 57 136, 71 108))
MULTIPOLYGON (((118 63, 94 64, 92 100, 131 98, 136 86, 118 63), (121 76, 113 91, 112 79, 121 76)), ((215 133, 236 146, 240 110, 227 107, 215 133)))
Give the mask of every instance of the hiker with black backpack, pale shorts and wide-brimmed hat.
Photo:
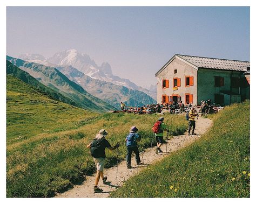
POLYGON ((107 131, 102 129, 99 130, 99 133, 96 135, 95 139, 92 140, 92 142, 87 145, 87 148, 90 148, 91 150, 91 156, 93 157, 93 160, 95 162, 97 173, 95 178, 95 186, 94 186, 94 192, 99 193, 102 192, 103 189, 98 187, 99 178, 101 177, 103 180, 103 184, 106 184, 107 177, 103 176, 103 167, 105 163, 105 148, 107 147, 109 150, 115 150, 117 147, 119 147, 119 144, 117 143, 115 146, 111 146, 109 141, 105 139, 107 135, 107 131))

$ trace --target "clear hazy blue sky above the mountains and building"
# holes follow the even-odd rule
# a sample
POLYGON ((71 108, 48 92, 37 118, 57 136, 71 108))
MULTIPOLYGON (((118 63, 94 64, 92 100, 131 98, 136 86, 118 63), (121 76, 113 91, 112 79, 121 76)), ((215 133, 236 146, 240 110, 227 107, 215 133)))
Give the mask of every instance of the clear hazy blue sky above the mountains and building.
POLYGON ((8 7, 7 54, 75 48, 137 85, 174 55, 250 61, 249 7, 8 7))

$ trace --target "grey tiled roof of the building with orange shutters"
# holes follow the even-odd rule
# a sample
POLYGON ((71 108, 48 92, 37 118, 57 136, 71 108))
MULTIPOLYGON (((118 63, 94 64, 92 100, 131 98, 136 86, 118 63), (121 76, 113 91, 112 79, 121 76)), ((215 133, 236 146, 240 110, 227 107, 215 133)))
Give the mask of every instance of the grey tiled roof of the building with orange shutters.
POLYGON ((161 71, 163 71, 163 69, 167 67, 175 58, 184 61, 186 64, 189 64, 194 68, 222 69, 246 72, 247 67, 250 67, 250 62, 248 61, 206 58, 176 54, 155 74, 155 76, 157 76, 161 71))

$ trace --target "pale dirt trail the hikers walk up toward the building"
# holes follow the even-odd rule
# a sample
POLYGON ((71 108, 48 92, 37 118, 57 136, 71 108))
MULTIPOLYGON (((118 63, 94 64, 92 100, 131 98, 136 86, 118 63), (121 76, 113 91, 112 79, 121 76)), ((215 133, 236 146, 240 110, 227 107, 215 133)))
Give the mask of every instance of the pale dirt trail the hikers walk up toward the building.
MULTIPOLYGON (((196 119, 196 130, 195 132, 202 135, 206 132, 206 130, 211 126, 212 121, 208 118, 199 117, 196 119)), ((107 184, 103 184, 102 179, 99 180, 99 188, 103 189, 102 193, 93 193, 93 187, 95 184, 95 174, 92 176, 86 175, 86 180, 82 185, 75 185, 69 191, 66 191, 62 194, 56 194, 55 198, 107 198, 111 191, 115 191, 118 187, 123 185, 123 182, 130 177, 138 174, 149 164, 153 164, 159 159, 164 158, 171 152, 177 151, 179 149, 184 148, 185 146, 191 144, 195 140, 197 140, 200 135, 197 136, 187 136, 180 135, 171 138, 168 140, 167 144, 167 152, 166 152, 166 144, 161 146, 161 150, 163 153, 156 154, 156 146, 152 148, 148 148, 143 152, 144 165, 137 165, 135 161, 135 156, 132 155, 131 160, 131 169, 126 168, 126 161, 122 161, 118 164, 118 178, 117 175, 117 167, 112 167, 108 169, 104 169, 104 176, 107 176, 107 184)), ((142 160, 142 154, 140 153, 140 159, 142 160)))

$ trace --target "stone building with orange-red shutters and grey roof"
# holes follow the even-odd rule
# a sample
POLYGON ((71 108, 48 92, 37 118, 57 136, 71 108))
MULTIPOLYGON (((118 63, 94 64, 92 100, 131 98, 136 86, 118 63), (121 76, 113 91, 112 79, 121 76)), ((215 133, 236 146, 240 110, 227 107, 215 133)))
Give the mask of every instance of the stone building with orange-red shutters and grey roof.
POLYGON ((157 103, 183 101, 200 105, 201 100, 228 105, 250 99, 244 73, 250 62, 174 55, 156 74, 157 103))

